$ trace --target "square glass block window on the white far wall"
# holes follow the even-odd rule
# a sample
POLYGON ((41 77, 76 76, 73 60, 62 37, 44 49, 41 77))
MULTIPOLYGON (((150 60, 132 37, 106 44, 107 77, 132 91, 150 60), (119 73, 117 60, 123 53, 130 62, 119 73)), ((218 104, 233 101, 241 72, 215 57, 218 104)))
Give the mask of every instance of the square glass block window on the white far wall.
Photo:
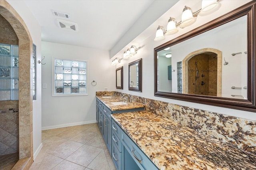
POLYGON ((87 95, 86 61, 54 59, 53 96, 87 95))

